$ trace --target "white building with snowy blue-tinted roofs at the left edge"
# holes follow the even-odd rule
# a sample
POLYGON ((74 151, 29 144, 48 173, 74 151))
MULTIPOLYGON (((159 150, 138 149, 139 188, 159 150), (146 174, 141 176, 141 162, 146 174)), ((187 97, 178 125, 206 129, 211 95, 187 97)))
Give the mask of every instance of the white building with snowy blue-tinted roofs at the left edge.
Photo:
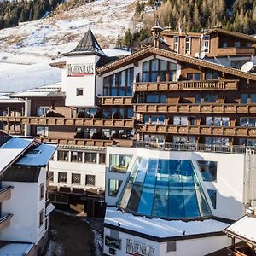
POLYGON ((47 200, 46 166, 56 146, 3 133, 0 146, 0 241, 5 241, 0 254, 38 255, 47 242, 49 212, 54 209, 47 200), (23 245, 12 246, 20 242, 23 245))

